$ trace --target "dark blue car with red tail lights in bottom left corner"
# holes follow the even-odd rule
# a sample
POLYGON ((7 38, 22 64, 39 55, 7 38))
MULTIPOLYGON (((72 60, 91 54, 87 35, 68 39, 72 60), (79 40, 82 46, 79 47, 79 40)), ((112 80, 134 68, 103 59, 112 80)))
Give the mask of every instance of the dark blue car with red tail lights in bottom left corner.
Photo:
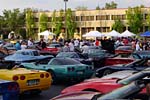
POLYGON ((17 82, 0 80, 0 100, 19 100, 19 85, 17 82))

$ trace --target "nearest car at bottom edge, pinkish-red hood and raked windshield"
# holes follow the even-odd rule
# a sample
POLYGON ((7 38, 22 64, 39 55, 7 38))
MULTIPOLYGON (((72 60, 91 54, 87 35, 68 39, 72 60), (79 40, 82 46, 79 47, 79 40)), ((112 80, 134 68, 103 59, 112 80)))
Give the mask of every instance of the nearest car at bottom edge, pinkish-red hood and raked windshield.
POLYGON ((50 100, 148 100, 147 95, 138 94, 147 84, 144 80, 136 80, 107 94, 92 91, 70 92, 50 100))

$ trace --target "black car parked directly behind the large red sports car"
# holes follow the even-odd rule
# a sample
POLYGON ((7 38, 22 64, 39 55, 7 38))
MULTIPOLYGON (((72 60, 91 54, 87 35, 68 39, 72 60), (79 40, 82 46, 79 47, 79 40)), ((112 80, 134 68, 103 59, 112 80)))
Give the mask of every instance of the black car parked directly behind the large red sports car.
POLYGON ((107 74, 111 74, 116 71, 122 70, 136 70, 141 71, 147 67, 149 67, 150 62, 149 59, 138 59, 128 64, 118 64, 112 66, 104 66, 96 70, 96 77, 102 77, 107 74))

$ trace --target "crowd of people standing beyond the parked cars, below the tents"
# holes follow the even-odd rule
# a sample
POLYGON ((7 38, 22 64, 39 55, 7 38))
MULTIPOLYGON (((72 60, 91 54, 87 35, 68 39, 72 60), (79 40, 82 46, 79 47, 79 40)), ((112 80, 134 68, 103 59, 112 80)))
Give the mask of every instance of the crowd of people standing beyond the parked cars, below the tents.
MULTIPOLYGON (((87 39, 69 39, 64 40, 62 38, 60 39, 53 39, 51 42, 57 42, 62 45, 62 51, 68 52, 68 51, 75 51, 77 48, 80 48, 83 53, 87 53, 89 46, 101 46, 102 49, 107 50, 110 53, 115 53, 115 48, 118 46, 123 45, 130 45, 132 46, 133 50, 149 50, 150 43, 147 40, 142 39, 134 39, 134 38, 108 38, 103 37, 96 40, 87 40, 87 39)), ((20 40, 15 43, 16 50, 22 50, 26 49, 28 47, 32 47, 35 44, 35 41, 33 41, 32 38, 29 38, 28 40, 20 40)), ((38 42, 38 47, 40 49, 46 48, 47 43, 44 41, 43 38, 40 39, 38 42)))

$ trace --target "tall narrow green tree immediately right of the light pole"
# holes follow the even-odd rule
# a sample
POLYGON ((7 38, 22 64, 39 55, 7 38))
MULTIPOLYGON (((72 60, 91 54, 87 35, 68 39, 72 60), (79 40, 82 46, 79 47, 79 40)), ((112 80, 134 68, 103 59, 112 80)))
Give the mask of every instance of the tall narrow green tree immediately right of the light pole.
POLYGON ((67 38, 73 38, 75 29, 76 29, 76 22, 74 21, 74 16, 72 14, 71 9, 67 10, 67 31, 68 31, 68 37, 67 38))

